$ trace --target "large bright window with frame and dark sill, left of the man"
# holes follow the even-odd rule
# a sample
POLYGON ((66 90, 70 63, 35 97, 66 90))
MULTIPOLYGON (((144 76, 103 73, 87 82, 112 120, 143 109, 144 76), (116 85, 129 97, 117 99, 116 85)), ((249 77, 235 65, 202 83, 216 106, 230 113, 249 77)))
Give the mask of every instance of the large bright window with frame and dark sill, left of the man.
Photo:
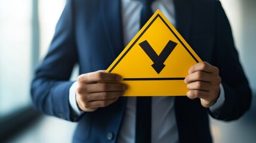
POLYGON ((66 0, 0 0, 0 141, 38 117, 30 83, 66 0))

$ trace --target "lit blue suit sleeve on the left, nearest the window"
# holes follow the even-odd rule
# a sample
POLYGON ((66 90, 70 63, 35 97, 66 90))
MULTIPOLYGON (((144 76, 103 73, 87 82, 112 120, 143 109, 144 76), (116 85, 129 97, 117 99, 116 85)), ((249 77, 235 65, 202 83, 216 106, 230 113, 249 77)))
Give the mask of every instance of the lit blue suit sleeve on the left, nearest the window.
POLYGON ((50 49, 36 69, 31 95, 35 107, 43 113, 72 120, 70 117, 69 81, 77 63, 77 49, 73 33, 72 2, 67 4, 55 29, 50 49))

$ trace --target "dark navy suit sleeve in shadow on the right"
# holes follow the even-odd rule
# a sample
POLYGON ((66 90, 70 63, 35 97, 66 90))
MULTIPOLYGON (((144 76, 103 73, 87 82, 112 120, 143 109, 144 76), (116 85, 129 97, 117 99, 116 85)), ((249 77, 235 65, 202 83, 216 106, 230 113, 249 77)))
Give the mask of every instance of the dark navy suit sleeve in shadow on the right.
POLYGON ((220 70, 225 101, 217 116, 210 114, 216 119, 229 121, 238 119, 249 109, 251 89, 239 63, 229 21, 219 1, 216 22, 214 65, 220 70))

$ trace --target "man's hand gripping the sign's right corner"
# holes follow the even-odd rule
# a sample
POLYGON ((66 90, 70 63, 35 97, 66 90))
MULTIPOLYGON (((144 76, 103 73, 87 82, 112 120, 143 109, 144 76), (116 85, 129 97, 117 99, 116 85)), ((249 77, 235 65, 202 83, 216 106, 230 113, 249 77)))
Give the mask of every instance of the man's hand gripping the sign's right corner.
POLYGON ((220 91, 221 77, 217 67, 202 61, 190 67, 189 75, 184 79, 187 83, 187 97, 194 100, 200 98, 203 107, 211 107, 217 100, 220 91))

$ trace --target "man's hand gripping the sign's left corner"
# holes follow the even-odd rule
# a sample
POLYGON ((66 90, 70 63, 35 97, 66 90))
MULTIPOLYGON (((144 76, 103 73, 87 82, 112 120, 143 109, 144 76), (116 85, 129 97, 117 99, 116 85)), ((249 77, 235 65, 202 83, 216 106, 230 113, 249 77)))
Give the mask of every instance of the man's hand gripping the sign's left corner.
POLYGON ((81 74, 76 88, 76 102, 82 111, 106 107, 124 95, 128 86, 120 83, 122 77, 104 70, 81 74))

